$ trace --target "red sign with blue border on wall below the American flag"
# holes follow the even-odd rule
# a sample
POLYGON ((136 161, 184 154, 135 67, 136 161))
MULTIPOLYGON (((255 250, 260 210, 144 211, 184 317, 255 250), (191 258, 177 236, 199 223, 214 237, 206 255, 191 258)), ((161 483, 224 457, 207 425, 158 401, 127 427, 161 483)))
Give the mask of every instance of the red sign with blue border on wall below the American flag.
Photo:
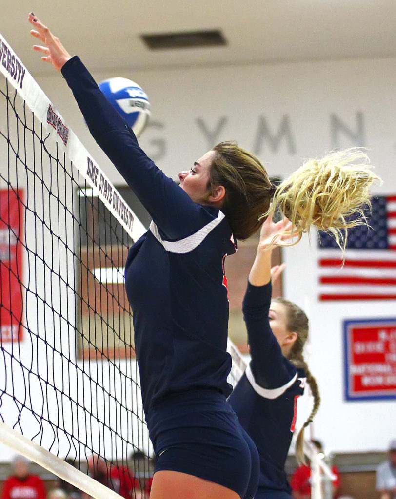
POLYGON ((396 319, 344 322, 346 398, 396 397, 396 319))

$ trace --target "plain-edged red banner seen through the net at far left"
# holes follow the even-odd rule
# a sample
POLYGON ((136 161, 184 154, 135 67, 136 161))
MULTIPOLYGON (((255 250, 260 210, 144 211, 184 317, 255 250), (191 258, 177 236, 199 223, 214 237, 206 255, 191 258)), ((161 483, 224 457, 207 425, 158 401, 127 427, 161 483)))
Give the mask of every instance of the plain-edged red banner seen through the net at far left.
POLYGON ((23 260, 22 189, 0 189, 0 335, 1 341, 22 336, 23 260))

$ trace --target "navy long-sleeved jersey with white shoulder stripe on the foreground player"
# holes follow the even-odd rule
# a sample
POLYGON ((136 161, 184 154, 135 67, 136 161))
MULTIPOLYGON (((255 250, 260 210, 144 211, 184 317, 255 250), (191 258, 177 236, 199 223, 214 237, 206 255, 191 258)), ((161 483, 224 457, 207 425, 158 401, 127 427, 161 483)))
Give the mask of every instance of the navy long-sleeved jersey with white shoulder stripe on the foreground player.
POLYGON ((62 74, 91 135, 153 219, 125 267, 145 412, 191 388, 228 396, 223 263, 236 245, 224 214, 194 203, 154 165, 77 56, 62 74))

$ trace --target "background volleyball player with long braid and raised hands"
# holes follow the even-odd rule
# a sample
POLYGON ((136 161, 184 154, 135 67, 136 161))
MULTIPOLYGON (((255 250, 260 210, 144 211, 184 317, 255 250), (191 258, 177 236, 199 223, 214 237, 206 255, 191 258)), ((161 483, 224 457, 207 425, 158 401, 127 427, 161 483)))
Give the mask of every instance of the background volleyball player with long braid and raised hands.
POLYGON ((243 300, 243 314, 252 360, 228 402, 260 456, 260 480, 256 499, 291 499, 285 462, 296 423, 297 399, 307 382, 314 407, 300 431, 296 454, 304 460, 304 428, 320 404, 318 385, 303 358, 308 337, 308 318, 296 304, 283 298, 271 300, 273 279, 282 267, 271 269, 271 252, 285 244, 290 223, 268 217, 260 232, 256 258, 250 270, 243 300))

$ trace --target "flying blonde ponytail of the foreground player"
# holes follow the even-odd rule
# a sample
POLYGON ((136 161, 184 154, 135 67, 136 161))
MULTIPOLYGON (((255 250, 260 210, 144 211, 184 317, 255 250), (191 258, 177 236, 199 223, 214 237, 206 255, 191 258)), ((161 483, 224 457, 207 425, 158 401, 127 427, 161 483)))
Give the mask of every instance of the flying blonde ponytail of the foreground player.
POLYGON ((356 148, 307 160, 277 187, 268 214, 278 207, 297 229, 298 241, 314 226, 330 232, 344 251, 347 229, 367 225, 363 210, 371 207, 370 187, 380 180, 368 163, 356 148))

